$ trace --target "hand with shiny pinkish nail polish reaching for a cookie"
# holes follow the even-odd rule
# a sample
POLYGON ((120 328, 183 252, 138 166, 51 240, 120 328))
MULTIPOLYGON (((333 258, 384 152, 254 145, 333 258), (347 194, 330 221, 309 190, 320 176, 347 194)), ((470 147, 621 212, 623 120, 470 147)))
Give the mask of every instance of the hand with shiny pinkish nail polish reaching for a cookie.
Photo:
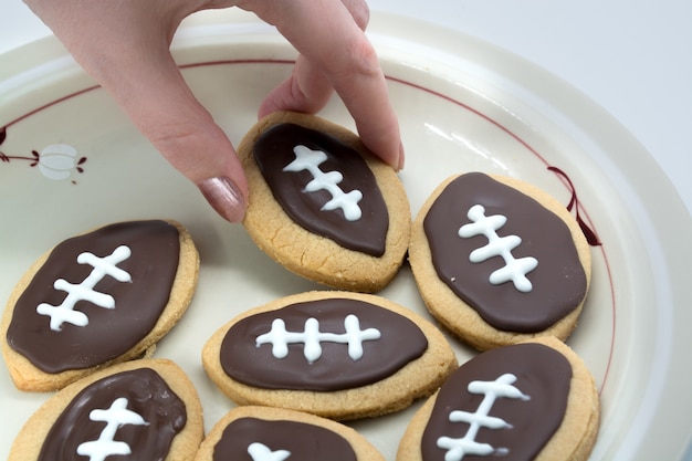
POLYGON ((399 127, 377 55, 363 32, 365 0, 25 0, 137 128, 196 184, 214 210, 241 221, 248 181, 235 150, 185 83, 169 52, 180 21, 203 9, 253 11, 296 48, 291 76, 259 115, 315 113, 335 90, 363 142, 403 166, 399 127))

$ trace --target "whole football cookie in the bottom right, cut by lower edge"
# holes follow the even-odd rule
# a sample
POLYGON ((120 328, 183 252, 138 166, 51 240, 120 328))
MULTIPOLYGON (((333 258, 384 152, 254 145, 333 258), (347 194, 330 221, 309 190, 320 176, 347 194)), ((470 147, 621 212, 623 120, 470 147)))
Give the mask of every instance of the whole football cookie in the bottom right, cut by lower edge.
POLYGON ((413 416, 397 461, 583 461, 599 420, 581 359, 559 339, 536 338, 484 352, 454 371, 413 416))

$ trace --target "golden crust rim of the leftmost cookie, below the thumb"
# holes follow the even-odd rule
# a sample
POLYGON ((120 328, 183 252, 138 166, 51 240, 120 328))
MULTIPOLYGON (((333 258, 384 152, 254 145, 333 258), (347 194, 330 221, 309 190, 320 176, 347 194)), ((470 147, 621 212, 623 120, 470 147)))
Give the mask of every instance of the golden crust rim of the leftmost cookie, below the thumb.
MULTIPOLYGON (((166 222, 178 229, 180 242, 180 256, 178 260, 178 271, 171 287, 170 298, 167 306, 161 313, 151 332, 141 338, 137 345, 130 348, 119 357, 101 364, 95 367, 65 370, 57 374, 45 373, 36 368, 27 357, 14 350, 7 342, 7 333, 14 312, 14 305, 22 292, 29 286, 36 271, 45 263, 52 249, 45 252, 32 266, 24 273, 21 280, 14 286, 7 302, 2 322, 0 323, 0 334, 2 335, 2 355, 7 364, 10 377, 20 390, 25 391, 51 391, 59 390, 77 379, 95 373, 102 368, 112 365, 133 360, 136 358, 148 357, 151 355, 156 343, 166 335, 187 311, 199 276, 199 253, 192 241, 192 237, 187 229, 177 221, 166 220, 166 222)), ((90 233, 92 229, 84 233, 90 233)))

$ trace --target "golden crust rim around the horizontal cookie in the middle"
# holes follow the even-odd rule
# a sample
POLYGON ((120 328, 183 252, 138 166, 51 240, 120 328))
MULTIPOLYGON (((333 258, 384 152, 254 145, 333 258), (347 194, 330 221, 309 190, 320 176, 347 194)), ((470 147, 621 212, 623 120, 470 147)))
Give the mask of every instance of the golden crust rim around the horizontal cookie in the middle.
POLYGON ((238 405, 259 405, 305 411, 335 420, 376 417, 409 407, 436 391, 457 368, 457 357, 442 333, 418 314, 379 296, 350 292, 307 292, 252 308, 219 328, 202 349, 202 364, 211 380, 238 405), (337 391, 262 389, 230 378, 221 367, 226 333, 242 318, 285 305, 332 297, 365 301, 411 319, 428 338, 428 349, 396 374, 368 386, 337 391))

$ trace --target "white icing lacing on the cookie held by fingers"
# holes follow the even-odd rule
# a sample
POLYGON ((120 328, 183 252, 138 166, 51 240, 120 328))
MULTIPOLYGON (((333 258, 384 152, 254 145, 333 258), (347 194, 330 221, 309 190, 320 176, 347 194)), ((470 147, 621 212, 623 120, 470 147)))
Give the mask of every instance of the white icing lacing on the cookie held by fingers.
POLYGON ((295 160, 286 165, 283 171, 302 171, 306 169, 313 175, 313 180, 305 186, 304 192, 315 192, 326 190, 332 195, 332 200, 326 202, 322 210, 336 210, 340 208, 347 221, 357 221, 363 211, 358 202, 363 199, 363 192, 357 189, 346 193, 338 187, 344 180, 344 175, 338 171, 323 172, 319 165, 327 159, 327 155, 322 150, 313 150, 298 145, 293 148, 295 160))

